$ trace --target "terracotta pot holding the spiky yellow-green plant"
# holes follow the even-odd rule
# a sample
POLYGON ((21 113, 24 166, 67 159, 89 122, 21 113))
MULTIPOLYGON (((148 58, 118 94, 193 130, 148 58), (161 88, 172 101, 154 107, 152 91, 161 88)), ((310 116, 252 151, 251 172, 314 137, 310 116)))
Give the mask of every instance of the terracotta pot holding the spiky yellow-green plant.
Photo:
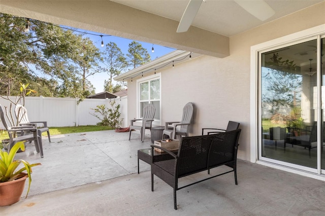
POLYGON ((11 205, 20 200, 28 175, 11 182, 0 183, 0 206, 11 205))

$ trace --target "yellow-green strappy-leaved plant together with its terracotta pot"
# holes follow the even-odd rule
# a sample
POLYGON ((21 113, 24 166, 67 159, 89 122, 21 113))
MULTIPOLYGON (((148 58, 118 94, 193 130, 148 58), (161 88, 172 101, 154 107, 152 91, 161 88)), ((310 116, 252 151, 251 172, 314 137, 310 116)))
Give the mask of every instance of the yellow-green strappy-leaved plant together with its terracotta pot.
POLYGON ((31 183, 31 167, 41 165, 41 163, 29 164, 21 159, 14 160, 19 149, 24 151, 24 142, 17 142, 9 153, 0 149, 0 206, 11 205, 20 200, 28 177, 27 197, 31 183), (20 164, 24 167, 16 171, 20 164))

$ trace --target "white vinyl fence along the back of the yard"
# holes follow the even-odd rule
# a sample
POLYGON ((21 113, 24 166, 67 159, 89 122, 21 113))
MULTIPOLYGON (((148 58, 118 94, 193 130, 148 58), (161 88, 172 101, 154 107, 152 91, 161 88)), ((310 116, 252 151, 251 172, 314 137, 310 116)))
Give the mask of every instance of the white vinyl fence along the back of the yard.
MULTIPOLYGON (((15 100, 16 97, 10 97, 15 100)), ((48 127, 66 127, 79 125, 95 125, 100 120, 90 113, 97 105, 105 104, 110 108, 110 100, 116 100, 120 104, 120 119, 121 127, 127 127, 127 98, 112 98, 112 99, 84 99, 77 104, 77 98, 61 98, 61 97, 25 97, 25 107, 28 112, 29 121, 47 121, 48 127)), ((5 109, 5 106, 10 105, 10 101, 0 98, 0 104, 5 109)), ((22 101, 21 101, 22 104, 22 101)), ((13 108, 14 115, 14 108, 13 108)), ((3 128, 3 125, 1 124, 3 128)))

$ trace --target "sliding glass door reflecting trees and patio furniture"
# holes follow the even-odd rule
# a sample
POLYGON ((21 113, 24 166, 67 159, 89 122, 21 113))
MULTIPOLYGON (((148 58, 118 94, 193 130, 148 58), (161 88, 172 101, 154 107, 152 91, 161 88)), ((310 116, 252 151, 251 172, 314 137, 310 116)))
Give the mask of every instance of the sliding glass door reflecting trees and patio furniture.
POLYGON ((324 39, 314 37, 259 53, 259 160, 325 169, 323 48, 324 39))

